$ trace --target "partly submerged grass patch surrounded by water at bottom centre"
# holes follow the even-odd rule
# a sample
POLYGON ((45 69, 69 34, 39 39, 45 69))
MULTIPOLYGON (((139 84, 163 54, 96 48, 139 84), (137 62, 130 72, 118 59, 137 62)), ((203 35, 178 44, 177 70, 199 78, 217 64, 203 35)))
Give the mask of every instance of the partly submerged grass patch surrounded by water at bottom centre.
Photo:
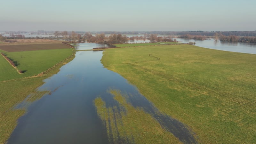
POLYGON ((100 97, 94 100, 98 115, 105 124, 110 143, 180 143, 172 133, 163 129, 150 114, 134 108, 118 90, 109 91, 122 107, 106 107, 100 97))

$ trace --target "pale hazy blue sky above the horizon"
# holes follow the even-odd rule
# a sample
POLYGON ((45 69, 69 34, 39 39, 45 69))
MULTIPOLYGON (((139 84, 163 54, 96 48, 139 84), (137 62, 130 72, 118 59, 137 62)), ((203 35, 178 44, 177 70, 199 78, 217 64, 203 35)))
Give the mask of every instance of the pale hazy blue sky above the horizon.
POLYGON ((1 31, 253 31, 256 0, 0 0, 1 31))

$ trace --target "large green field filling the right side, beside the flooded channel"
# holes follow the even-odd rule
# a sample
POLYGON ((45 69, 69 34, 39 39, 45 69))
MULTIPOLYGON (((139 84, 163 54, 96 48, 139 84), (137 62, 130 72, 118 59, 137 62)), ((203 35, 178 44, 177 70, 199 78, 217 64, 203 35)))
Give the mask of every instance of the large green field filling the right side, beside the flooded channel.
POLYGON ((255 59, 184 44, 106 49, 102 63, 187 124, 200 143, 255 143, 255 59))

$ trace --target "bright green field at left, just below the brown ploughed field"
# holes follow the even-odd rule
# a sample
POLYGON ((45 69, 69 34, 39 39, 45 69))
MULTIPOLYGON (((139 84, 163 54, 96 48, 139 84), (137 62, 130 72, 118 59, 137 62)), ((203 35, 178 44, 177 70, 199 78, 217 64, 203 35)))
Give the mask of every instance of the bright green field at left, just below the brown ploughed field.
POLYGON ((53 49, 26 52, 4 52, 16 64, 19 70, 25 71, 19 74, 3 57, 0 58, 0 81, 34 76, 46 71, 60 61, 66 59, 73 52, 69 49, 53 49))

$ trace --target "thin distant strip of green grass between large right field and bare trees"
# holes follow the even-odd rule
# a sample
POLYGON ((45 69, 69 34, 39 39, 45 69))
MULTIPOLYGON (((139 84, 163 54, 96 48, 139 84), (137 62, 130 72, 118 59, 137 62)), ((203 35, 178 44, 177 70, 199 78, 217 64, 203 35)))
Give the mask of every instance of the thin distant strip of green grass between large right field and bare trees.
POLYGON ((165 44, 181 44, 181 43, 176 43, 176 42, 158 42, 158 43, 114 44, 114 45, 116 47, 134 47, 134 46, 165 45, 165 44))

